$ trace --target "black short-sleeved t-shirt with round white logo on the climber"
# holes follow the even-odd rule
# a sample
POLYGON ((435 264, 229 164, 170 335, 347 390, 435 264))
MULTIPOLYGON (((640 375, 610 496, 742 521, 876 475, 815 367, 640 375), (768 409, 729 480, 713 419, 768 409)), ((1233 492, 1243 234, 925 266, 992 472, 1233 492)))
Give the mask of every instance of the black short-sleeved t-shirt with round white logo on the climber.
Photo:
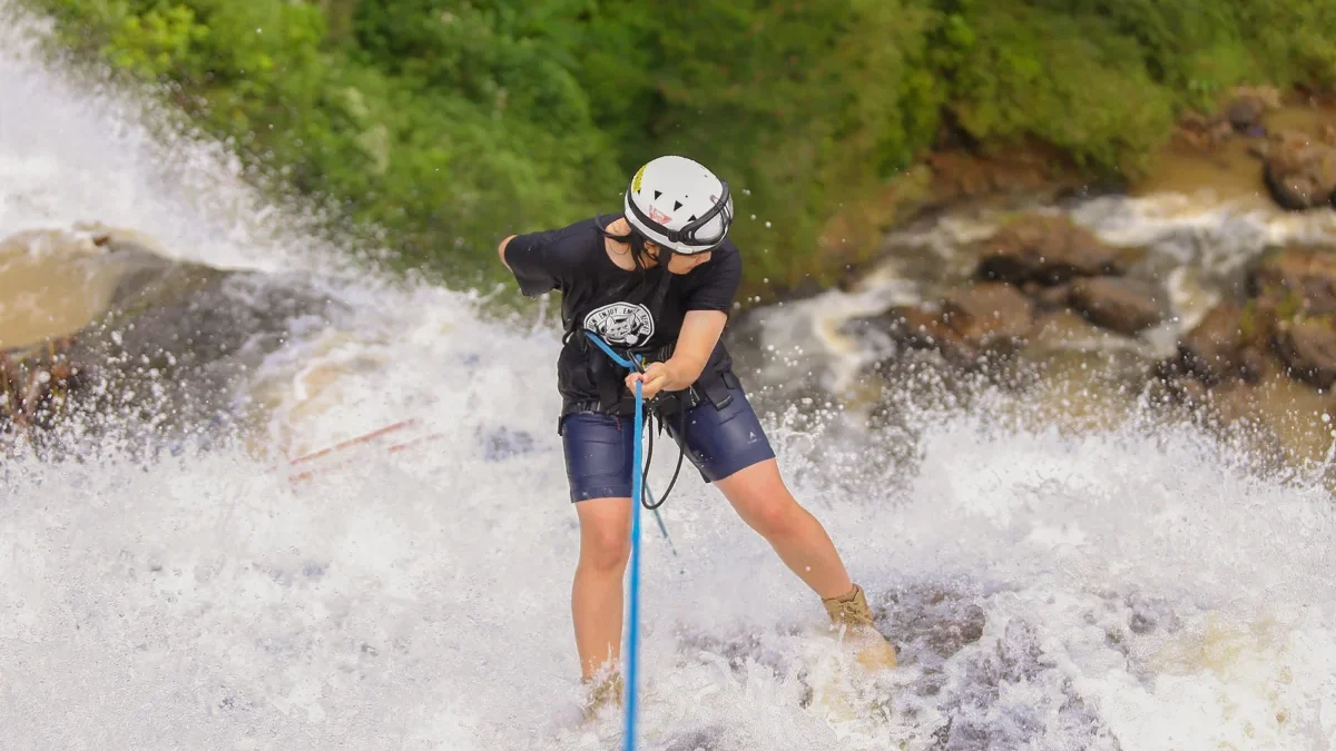
MULTIPOLYGON (((561 321, 568 333, 557 359, 557 388, 566 404, 600 400, 600 385, 625 380, 624 369, 588 341, 581 330, 603 337, 624 351, 660 350, 677 341, 689 310, 729 313, 741 282, 741 254, 729 239, 709 261, 685 274, 663 266, 625 270, 608 257, 600 227, 609 222, 584 219, 558 230, 516 235, 505 261, 529 297, 558 290, 561 321)), ((715 346, 703 376, 727 366, 723 341, 715 346)), ((620 386, 625 392, 625 385, 620 386)))

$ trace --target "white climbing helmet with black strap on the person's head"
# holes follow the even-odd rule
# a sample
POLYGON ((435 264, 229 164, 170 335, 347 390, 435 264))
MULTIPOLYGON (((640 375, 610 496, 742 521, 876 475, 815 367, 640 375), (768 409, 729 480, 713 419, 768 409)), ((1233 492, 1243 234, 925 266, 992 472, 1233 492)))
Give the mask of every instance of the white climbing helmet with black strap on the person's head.
POLYGON ((724 242, 733 223, 728 183, 685 156, 660 156, 627 190, 627 220, 645 239, 695 254, 724 242))

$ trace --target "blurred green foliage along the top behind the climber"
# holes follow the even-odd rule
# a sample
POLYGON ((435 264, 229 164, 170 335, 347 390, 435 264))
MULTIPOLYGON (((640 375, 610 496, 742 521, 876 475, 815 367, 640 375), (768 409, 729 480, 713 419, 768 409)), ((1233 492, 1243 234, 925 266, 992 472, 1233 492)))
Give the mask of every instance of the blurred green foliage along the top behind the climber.
POLYGON ((1336 7, 1308 0, 27 1, 464 282, 504 278, 506 234, 616 211, 657 154, 725 175, 749 278, 784 286, 943 134, 1134 176, 1233 86, 1336 88, 1336 7))

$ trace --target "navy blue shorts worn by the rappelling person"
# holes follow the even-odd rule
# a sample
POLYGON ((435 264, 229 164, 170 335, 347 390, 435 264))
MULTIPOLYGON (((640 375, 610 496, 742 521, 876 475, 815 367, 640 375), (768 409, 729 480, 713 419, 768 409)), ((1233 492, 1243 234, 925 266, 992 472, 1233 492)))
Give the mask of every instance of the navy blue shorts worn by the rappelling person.
MULTIPOLYGON (((723 480, 739 469, 775 458, 775 452, 762 430, 760 420, 741 389, 731 389, 733 398, 723 409, 709 400, 687 410, 687 458, 707 482, 723 480)), ((664 421, 677 430, 680 417, 664 421)), ((655 428, 657 429, 657 426, 655 428)), ((649 429, 647 429, 648 433, 649 429)), ((633 465, 635 418, 596 413, 573 413, 561 421, 561 442, 566 454, 566 478, 570 500, 629 498, 633 465)), ((655 453, 680 450, 665 436, 655 436, 655 453)), ((657 462, 656 462, 657 464, 657 462)))

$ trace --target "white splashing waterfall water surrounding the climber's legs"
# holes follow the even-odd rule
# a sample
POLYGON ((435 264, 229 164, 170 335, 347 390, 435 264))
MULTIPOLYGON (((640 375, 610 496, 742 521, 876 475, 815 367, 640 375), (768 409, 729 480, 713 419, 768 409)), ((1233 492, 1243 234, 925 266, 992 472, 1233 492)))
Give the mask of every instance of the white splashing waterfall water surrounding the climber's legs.
MULTIPOLYGON (((319 278, 353 314, 251 374, 250 446, 4 465, 5 748, 613 746, 616 718, 573 720, 556 333, 342 274, 339 249, 275 234, 285 210, 216 150, 155 142, 123 100, 43 69, 35 33, 0 31, 0 235, 124 226, 319 278), (289 480, 283 456, 407 417, 430 440, 289 480)), ((762 351, 802 334, 786 321, 762 351)), ((775 355, 751 380, 810 365, 775 355)), ((681 557, 645 539, 643 747, 1336 748, 1336 520, 1305 474, 1186 428, 1018 428, 987 417, 1002 396, 911 404, 912 438, 760 401, 903 667, 854 723, 807 707, 819 604, 684 473, 665 506, 681 557), (908 440, 910 461, 870 456, 908 440)))

